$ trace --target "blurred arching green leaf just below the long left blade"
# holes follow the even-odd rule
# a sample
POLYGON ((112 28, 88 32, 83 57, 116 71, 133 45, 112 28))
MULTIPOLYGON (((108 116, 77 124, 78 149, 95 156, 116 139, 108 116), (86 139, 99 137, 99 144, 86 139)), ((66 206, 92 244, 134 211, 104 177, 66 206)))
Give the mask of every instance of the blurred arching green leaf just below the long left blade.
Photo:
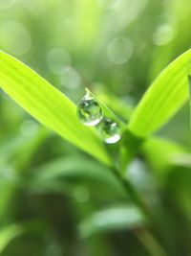
POLYGON ((46 165, 33 170, 35 179, 41 182, 60 180, 61 178, 74 178, 81 180, 92 180, 94 182, 104 182, 111 185, 117 191, 122 192, 122 187, 115 175, 108 168, 87 158, 79 156, 65 156, 48 162, 46 165))

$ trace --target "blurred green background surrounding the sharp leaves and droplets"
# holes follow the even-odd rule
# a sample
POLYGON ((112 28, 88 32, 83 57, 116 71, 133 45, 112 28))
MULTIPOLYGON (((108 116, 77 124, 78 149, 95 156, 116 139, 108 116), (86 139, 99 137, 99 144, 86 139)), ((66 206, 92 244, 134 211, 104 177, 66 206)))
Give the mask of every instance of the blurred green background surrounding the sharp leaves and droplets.
MULTIPOLYGON (((0 49, 76 104, 88 86, 128 122, 190 48, 190 22, 189 0, 0 0, 0 49)), ((0 255, 191 255, 188 105, 156 135, 127 170, 158 218, 153 237, 107 167, 0 91, 0 255), (169 162, 171 151, 179 157, 169 162)))

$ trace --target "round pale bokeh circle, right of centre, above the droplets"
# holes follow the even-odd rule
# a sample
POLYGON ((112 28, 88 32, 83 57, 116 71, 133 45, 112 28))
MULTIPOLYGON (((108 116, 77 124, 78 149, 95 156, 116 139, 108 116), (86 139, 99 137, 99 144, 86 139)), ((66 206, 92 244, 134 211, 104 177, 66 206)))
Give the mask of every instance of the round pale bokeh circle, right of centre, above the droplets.
POLYGON ((133 44, 128 38, 117 37, 110 42, 107 54, 113 63, 123 64, 131 58, 133 50, 133 44))

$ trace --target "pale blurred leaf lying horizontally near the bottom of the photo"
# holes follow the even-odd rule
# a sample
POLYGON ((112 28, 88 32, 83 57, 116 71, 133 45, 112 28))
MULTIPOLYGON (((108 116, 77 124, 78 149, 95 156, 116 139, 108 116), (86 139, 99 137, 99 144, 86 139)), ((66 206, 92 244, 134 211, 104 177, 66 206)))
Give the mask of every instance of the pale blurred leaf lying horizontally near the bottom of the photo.
POLYGON ((144 225, 144 218, 135 206, 116 206, 94 213, 79 226, 83 238, 100 232, 132 229, 144 225))

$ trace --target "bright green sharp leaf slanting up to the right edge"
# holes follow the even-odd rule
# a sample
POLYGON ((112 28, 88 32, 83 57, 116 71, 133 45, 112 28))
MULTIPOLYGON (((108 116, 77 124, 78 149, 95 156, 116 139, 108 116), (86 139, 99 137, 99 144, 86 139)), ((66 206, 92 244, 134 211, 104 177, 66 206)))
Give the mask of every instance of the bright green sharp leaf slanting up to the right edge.
POLYGON ((163 126, 188 98, 187 77, 191 74, 191 50, 167 66, 135 109, 129 128, 145 137, 163 126))

